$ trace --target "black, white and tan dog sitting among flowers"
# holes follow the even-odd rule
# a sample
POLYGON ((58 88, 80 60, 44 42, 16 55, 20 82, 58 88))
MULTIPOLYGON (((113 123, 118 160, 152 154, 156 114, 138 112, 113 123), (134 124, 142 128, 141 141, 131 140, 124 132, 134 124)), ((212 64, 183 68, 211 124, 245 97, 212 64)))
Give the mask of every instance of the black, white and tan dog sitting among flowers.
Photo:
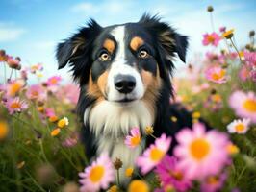
POLYGON ((136 23, 109 27, 90 19, 86 27, 58 44, 59 69, 68 63, 80 84, 77 110, 89 158, 107 152, 112 159, 122 160, 124 172, 154 142, 151 136, 143 136, 142 148, 129 149, 124 138, 132 128, 144 134, 146 126, 153 126, 156 137, 162 133, 173 137, 192 127, 191 113, 170 103, 174 60, 179 57, 185 62, 187 47, 188 36, 149 14, 136 23))

